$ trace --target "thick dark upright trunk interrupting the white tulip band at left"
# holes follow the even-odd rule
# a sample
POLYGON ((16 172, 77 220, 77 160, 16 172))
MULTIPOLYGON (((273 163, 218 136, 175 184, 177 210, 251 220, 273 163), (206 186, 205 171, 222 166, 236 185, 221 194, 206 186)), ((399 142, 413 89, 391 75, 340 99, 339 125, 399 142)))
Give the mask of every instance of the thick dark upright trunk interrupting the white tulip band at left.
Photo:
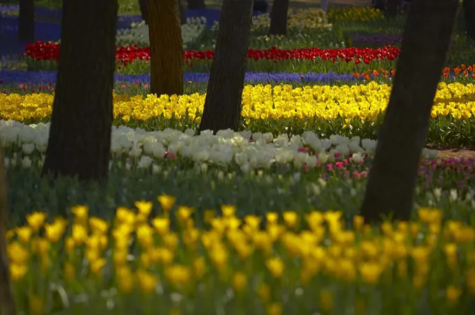
POLYGON ((63 2, 61 48, 43 174, 108 176, 117 0, 63 2))

